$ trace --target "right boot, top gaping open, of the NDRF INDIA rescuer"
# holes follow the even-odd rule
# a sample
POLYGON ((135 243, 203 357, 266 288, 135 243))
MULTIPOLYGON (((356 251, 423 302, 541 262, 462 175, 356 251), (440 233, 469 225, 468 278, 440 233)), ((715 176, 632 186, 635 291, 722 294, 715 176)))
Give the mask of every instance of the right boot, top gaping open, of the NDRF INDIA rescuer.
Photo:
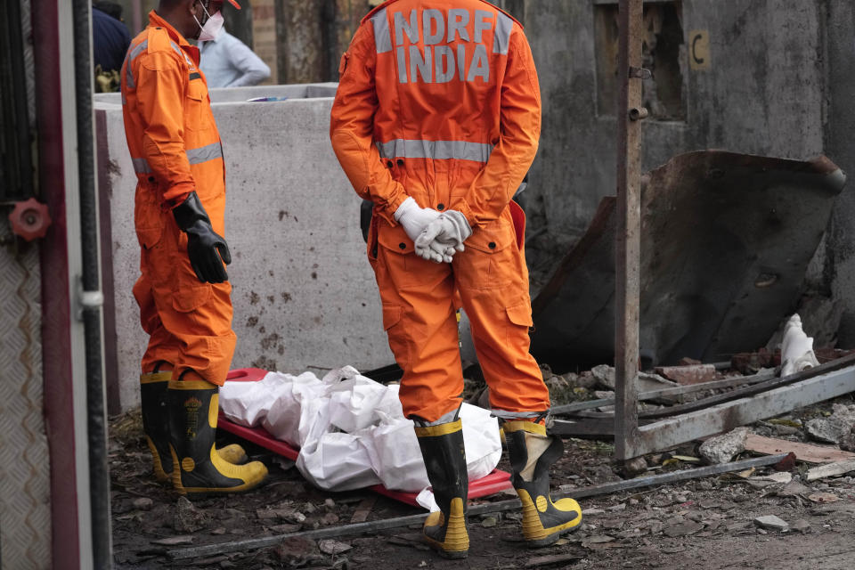
POLYGON ((561 457, 564 444, 531 421, 506 421, 503 429, 514 472, 511 482, 523 503, 525 543, 532 548, 548 546, 582 524, 578 502, 569 498, 552 502, 550 497, 550 467, 561 457))

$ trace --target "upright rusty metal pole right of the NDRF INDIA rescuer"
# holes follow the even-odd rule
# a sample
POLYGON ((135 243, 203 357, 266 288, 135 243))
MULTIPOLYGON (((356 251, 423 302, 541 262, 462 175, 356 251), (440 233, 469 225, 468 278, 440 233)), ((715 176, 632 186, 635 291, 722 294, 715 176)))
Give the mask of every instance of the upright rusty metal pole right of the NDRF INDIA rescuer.
POLYGON ((615 455, 629 460, 639 428, 639 251, 641 0, 621 0, 617 69, 617 228, 615 232, 615 455))

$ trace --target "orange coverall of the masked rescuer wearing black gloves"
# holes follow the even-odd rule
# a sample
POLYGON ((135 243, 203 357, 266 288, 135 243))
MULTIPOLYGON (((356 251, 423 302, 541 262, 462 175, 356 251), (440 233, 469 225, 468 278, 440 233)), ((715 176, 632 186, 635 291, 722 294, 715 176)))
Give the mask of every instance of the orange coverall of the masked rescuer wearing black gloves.
POLYGON ((191 191, 224 236, 223 146, 199 70, 199 49, 154 11, 134 37, 121 70, 127 146, 136 172, 134 224, 142 276, 134 284, 149 346, 142 371, 173 364, 222 385, 232 363, 232 286, 202 283, 187 256, 187 236, 171 208, 191 191))

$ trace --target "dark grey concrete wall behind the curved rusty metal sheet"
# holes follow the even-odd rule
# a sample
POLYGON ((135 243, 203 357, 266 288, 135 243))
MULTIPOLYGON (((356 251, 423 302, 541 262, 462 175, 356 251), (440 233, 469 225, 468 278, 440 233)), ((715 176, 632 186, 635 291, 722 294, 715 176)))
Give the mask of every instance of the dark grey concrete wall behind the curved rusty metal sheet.
MULTIPOLYGON (((585 230, 602 197, 615 194, 616 101, 605 109, 598 105, 594 26, 595 11, 608 4, 617 2, 525 2, 525 32, 543 102, 528 201, 536 195, 549 232, 565 243, 585 230)), ((643 168, 708 148, 790 159, 821 153, 823 3, 676 4, 684 34, 680 71, 686 116, 642 123, 643 168), (712 61, 706 69, 689 68, 688 35, 698 29, 710 39, 712 61)))

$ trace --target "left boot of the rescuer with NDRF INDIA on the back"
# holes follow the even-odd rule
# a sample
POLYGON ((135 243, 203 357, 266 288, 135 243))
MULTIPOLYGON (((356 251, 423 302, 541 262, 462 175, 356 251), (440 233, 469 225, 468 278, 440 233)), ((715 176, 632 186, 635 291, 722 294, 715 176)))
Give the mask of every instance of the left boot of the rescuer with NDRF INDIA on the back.
POLYGON ((423 533, 428 544, 445 558, 466 558, 469 553, 466 532, 469 480, 462 429, 460 419, 438 426, 416 427, 428 480, 440 509, 428 515, 423 533))

